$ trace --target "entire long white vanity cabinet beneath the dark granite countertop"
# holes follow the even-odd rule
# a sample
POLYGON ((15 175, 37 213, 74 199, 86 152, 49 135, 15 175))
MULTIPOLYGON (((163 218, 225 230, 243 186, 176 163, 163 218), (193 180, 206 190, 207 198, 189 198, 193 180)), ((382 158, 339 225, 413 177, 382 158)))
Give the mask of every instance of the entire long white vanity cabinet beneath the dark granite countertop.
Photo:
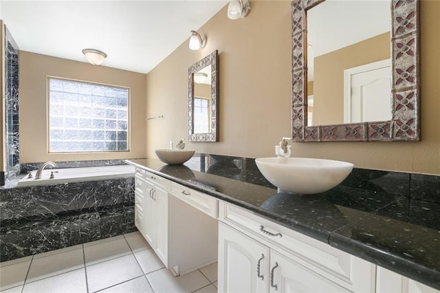
POLYGON ((218 258, 218 292, 440 293, 140 168, 135 226, 175 276, 218 258))

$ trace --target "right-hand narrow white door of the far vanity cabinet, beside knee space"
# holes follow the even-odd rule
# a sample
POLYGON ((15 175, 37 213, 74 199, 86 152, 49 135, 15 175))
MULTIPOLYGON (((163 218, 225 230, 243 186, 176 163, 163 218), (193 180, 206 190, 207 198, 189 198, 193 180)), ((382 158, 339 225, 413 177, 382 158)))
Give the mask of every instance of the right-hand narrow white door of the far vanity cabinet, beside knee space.
POLYGON ((159 259, 168 268, 168 193, 155 186, 152 198, 155 203, 156 232, 153 248, 159 259))

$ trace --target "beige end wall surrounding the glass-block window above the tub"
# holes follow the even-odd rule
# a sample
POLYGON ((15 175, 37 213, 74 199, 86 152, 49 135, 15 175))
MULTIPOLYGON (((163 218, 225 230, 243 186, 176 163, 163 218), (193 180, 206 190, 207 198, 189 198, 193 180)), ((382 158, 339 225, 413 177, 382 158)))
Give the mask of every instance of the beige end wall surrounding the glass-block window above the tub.
MULTIPOLYGON (((146 75, 78 61, 19 52, 20 162, 145 158, 146 75), (46 78, 55 76, 120 85, 130 90, 131 149, 115 153, 47 153, 46 78)), ((105 64, 105 63, 104 63, 105 64)))

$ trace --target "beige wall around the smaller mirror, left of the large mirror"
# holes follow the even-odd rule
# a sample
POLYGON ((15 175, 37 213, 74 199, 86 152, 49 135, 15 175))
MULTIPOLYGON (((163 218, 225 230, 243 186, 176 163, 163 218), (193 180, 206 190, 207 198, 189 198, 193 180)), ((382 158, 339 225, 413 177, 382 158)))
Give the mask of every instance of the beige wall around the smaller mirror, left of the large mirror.
POLYGON ((290 2, 252 1, 245 19, 228 19, 227 6, 198 31, 205 48, 177 47, 147 74, 147 156, 170 140, 188 138, 190 65, 219 50, 219 142, 187 143, 199 152, 256 157, 272 155, 291 133, 290 2), (276 125, 276 129, 274 126, 276 125))

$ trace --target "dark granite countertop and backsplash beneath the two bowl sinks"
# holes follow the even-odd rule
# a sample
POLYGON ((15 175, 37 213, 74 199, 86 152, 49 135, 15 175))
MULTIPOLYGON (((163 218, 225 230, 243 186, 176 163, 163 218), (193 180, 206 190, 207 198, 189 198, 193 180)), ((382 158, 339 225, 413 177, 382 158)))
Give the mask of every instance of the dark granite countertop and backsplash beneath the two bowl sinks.
POLYGON ((127 162, 440 290, 440 177, 353 169, 316 195, 277 193, 252 158, 127 162))

